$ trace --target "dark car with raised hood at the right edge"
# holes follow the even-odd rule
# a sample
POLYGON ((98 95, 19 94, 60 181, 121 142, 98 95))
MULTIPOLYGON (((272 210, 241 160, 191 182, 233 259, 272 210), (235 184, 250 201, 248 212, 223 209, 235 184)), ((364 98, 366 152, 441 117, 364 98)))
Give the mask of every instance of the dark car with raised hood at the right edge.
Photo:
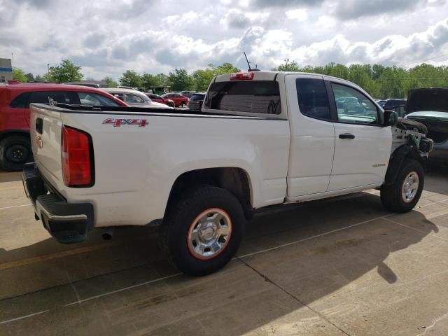
POLYGON ((428 138, 434 141, 431 158, 448 159, 448 89, 410 90, 405 111, 405 118, 428 128, 428 138))

